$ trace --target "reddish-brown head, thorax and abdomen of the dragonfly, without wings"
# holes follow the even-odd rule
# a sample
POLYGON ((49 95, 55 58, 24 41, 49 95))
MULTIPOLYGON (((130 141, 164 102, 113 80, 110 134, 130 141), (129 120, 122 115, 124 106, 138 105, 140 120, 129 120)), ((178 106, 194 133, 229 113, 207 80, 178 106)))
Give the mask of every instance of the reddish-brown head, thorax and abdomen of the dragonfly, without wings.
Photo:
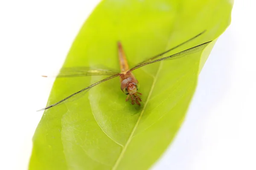
POLYGON ((134 77, 134 75, 129 70, 128 62, 122 48, 121 42, 117 43, 118 46, 118 55, 119 55, 119 63, 120 63, 120 70, 121 73, 119 75, 120 82, 121 82, 121 90, 128 94, 125 101, 131 99, 131 104, 134 105, 134 102, 140 105, 142 95, 141 93, 137 92, 140 88, 138 80, 134 77))

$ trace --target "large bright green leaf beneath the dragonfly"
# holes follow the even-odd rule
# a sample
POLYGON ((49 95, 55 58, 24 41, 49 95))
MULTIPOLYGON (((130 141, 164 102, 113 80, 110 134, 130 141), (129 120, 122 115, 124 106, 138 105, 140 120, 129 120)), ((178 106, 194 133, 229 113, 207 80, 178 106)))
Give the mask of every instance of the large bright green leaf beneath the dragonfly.
MULTIPOLYGON (((103 0, 81 28, 64 67, 119 70, 118 40, 130 66, 204 30, 166 56, 215 40, 230 24, 232 5, 230 0, 103 0)), ((180 128, 213 45, 135 70, 141 106, 125 102, 116 77, 46 110, 35 131, 29 169, 151 167, 180 128)), ((105 77, 56 79, 47 105, 105 77)))

